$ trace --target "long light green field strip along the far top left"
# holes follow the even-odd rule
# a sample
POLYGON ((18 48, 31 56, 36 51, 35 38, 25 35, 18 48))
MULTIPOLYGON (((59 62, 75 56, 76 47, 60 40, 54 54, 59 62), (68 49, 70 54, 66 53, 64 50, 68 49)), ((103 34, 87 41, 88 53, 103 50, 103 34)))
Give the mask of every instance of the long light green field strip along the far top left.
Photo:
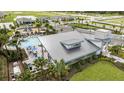
MULTIPOLYGON (((4 20, 0 22, 12 22, 16 16, 36 16, 36 17, 51 17, 51 16, 78 16, 74 12, 49 12, 49 11, 8 11, 8 14, 4 20)), ((86 18, 86 16, 79 16, 80 18, 86 18)))

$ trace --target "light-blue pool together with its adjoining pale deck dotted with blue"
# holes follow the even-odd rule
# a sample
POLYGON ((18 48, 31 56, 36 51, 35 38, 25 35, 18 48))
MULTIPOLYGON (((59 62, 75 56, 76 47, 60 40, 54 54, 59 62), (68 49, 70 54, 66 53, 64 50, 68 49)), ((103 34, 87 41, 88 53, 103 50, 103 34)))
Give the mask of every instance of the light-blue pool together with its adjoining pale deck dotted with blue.
POLYGON ((24 61, 27 64, 33 64, 35 59, 42 57, 42 50, 39 46, 41 45, 41 42, 38 37, 39 36, 24 38, 24 41, 22 41, 20 44, 20 47, 24 48, 28 55, 28 60, 24 61))

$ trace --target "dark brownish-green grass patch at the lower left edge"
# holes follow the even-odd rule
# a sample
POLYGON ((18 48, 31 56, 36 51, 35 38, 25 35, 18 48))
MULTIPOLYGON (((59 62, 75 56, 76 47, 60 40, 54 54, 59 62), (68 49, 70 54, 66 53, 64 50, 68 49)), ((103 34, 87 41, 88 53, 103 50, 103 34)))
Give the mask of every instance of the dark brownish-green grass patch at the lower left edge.
POLYGON ((0 81, 1 80, 7 80, 7 61, 3 56, 0 56, 0 81))

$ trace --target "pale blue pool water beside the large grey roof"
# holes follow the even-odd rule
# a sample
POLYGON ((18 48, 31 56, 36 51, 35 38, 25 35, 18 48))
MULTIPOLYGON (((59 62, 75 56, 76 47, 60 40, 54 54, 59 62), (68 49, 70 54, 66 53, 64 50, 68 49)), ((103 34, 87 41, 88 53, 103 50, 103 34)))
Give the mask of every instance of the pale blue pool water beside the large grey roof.
POLYGON ((25 38, 24 40, 25 40, 24 42, 21 42, 22 48, 27 48, 29 46, 38 46, 41 44, 37 37, 25 38))

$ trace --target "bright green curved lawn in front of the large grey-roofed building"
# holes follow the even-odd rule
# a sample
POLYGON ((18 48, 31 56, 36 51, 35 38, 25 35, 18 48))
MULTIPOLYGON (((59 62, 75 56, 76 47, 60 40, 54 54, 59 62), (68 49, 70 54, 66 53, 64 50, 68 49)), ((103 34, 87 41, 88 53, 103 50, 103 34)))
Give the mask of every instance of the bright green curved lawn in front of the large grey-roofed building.
POLYGON ((112 63, 101 61, 76 73, 70 80, 124 80, 124 72, 112 63))

